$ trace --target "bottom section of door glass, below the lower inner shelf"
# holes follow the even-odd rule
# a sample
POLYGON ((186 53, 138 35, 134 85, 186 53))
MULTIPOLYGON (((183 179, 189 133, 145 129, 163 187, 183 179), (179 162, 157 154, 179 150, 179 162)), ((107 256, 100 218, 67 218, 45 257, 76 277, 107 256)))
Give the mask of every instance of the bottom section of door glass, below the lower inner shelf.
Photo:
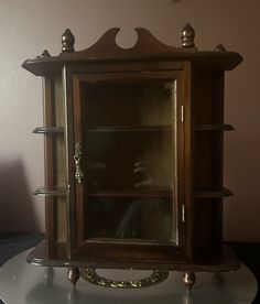
POLYGON ((160 197, 96 198, 88 202, 88 237, 171 241, 172 199, 160 197))

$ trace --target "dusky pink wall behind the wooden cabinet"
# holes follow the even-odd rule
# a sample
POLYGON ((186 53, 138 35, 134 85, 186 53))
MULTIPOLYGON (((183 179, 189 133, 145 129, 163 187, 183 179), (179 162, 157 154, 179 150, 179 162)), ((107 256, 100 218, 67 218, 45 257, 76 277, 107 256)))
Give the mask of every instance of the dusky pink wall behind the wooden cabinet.
POLYGON ((245 57, 226 78, 226 122, 236 131, 226 134, 225 181, 235 196, 225 200, 225 238, 260 241, 259 11, 258 0, 1 0, 0 230, 44 230, 43 200, 30 196, 43 184, 43 142, 31 133, 42 124, 41 79, 21 63, 44 48, 58 54, 66 28, 80 50, 112 26, 122 46, 134 44, 137 26, 178 45, 191 22, 201 50, 221 42, 245 57))

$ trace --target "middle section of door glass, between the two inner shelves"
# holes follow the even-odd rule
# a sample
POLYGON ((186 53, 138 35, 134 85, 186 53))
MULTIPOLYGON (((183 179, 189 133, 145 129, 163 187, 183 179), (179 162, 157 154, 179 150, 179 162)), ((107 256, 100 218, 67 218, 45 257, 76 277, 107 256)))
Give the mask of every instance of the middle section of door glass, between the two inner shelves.
POLYGON ((145 187, 172 191, 171 132, 88 132, 86 142, 90 191, 145 187))

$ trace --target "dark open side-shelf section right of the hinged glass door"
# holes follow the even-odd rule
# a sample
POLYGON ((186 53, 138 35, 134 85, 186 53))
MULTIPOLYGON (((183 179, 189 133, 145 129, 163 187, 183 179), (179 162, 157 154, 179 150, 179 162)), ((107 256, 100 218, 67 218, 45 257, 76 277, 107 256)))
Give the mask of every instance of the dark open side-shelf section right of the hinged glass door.
POLYGON ((195 121, 195 243, 216 246, 223 239, 223 198, 231 192, 223 188, 224 73, 194 70, 195 121), (203 110, 202 110, 203 109, 203 110))

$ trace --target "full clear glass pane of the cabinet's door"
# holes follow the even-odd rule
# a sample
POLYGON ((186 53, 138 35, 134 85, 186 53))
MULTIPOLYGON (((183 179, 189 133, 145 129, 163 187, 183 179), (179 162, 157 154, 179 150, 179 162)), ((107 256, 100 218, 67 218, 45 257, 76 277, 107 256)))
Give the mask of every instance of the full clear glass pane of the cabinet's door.
POLYGON ((176 242, 174 87, 83 86, 86 238, 176 242))

